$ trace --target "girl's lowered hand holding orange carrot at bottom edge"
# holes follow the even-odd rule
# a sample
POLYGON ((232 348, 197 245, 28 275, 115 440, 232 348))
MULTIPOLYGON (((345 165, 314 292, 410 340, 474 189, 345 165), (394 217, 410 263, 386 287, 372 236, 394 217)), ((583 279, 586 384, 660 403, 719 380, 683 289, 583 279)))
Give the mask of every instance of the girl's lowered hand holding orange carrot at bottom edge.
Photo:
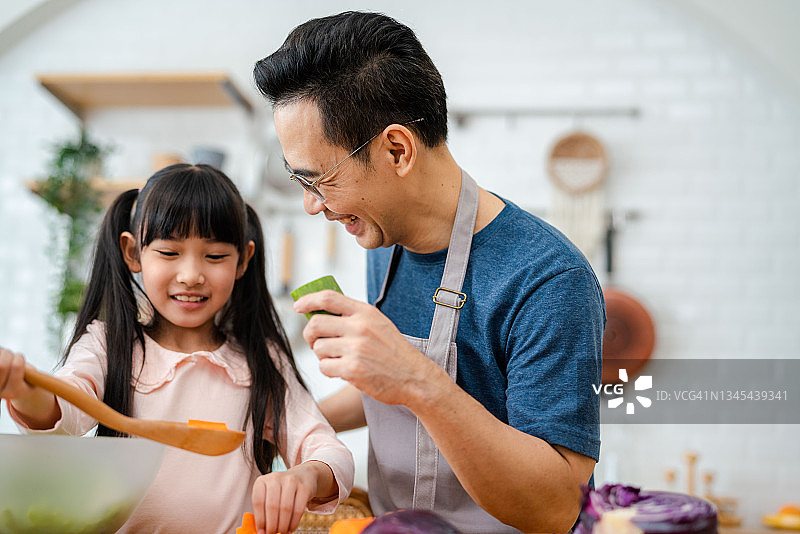
POLYGON ((256 479, 253 515, 259 534, 288 534, 297 528, 308 501, 317 494, 320 476, 325 476, 320 468, 330 473, 327 465, 310 461, 256 479))

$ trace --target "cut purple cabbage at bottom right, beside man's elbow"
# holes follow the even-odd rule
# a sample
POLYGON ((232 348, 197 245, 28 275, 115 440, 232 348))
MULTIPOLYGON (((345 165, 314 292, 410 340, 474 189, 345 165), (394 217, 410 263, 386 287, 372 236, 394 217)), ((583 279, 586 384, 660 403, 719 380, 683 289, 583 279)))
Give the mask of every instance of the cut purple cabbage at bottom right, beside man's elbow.
POLYGON ((590 534, 594 524, 611 510, 633 509, 631 521, 645 533, 716 534, 717 510, 705 499, 683 493, 642 491, 633 486, 606 484, 584 488, 575 534, 590 534))

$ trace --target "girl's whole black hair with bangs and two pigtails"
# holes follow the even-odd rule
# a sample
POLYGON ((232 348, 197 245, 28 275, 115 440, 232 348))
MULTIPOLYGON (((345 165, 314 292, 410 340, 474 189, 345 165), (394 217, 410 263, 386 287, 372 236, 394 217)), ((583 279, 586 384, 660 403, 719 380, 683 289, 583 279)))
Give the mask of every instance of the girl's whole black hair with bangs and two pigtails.
MULTIPOLYGON (((234 284, 230 300, 218 317, 218 329, 229 342, 238 344, 247 359, 251 375, 247 418, 254 429, 253 455, 259 471, 270 472, 278 452, 286 392, 286 381, 270 357, 270 349, 282 353, 285 358, 279 361, 285 360, 289 371, 303 382, 267 288, 264 236, 258 215, 221 171, 209 165, 187 164, 158 171, 141 191, 122 193, 108 209, 98 233, 89 285, 75 332, 62 363, 86 327, 95 319, 104 321, 108 371, 103 400, 120 413, 130 415, 134 391, 133 347, 139 343, 144 351, 144 332, 155 326, 159 315, 154 310, 150 324, 139 322, 136 292, 141 289, 122 255, 123 232, 135 236, 137 250, 155 239, 213 238, 234 245, 242 261, 248 243, 255 244, 247 270, 234 284), (272 422, 271 440, 263 439, 260 430, 267 420, 272 422)), ((104 425, 99 425, 97 434, 122 435, 104 425)))

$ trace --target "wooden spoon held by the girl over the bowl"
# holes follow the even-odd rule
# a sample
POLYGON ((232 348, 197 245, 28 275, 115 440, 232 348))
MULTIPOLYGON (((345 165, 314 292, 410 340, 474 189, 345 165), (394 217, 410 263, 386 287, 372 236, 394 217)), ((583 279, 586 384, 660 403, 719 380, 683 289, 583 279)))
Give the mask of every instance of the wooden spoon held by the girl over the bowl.
POLYGON ((109 428, 179 449, 207 456, 219 456, 237 449, 244 441, 244 432, 238 430, 216 430, 190 426, 188 423, 148 421, 122 415, 75 386, 54 376, 40 373, 31 366, 25 367, 25 381, 54 393, 109 428))

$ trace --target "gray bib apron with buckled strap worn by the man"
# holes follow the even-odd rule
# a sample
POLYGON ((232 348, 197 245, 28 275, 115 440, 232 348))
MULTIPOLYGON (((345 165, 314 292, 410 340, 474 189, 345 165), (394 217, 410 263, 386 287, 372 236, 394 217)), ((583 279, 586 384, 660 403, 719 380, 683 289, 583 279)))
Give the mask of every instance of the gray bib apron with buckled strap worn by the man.
MULTIPOLYGON (((462 171, 458 209, 450 235, 444 274, 432 296, 436 303, 428 339, 403 337, 417 350, 445 369, 456 380, 455 338, 458 317, 467 295, 461 292, 467 270, 475 216, 478 212, 478 186, 462 171)), ((395 246, 381 293, 386 296, 399 260, 395 246)), ((446 516, 466 533, 519 532, 489 515, 467 494, 430 434, 411 410, 392 406, 362 395, 369 427, 369 500, 375 515, 401 508, 433 510, 446 516)), ((476 458, 491 462, 492 458, 476 458)))

